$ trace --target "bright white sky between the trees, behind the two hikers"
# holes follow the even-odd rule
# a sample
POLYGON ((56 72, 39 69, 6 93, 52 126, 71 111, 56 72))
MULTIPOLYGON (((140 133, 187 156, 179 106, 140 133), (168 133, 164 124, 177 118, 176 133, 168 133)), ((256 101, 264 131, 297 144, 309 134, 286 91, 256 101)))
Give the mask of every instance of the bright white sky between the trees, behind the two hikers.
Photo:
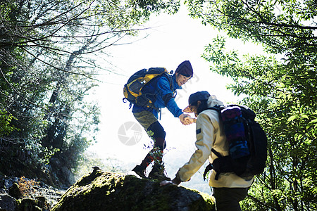
MULTIPOLYGON (((216 95, 224 103, 237 101, 237 97, 225 88, 230 81, 211 72, 210 64, 201 58, 204 46, 211 43, 211 39, 219 33, 218 30, 201 25, 199 20, 193 20, 186 14, 186 8, 183 7, 177 15, 152 17, 152 20, 147 23, 148 26, 154 27, 147 31, 149 37, 132 44, 108 48, 112 56, 109 59, 113 65, 116 65, 115 71, 119 75, 113 73, 106 75, 102 79, 104 84, 101 84, 96 92, 99 106, 101 106, 101 131, 97 137, 97 143, 90 148, 90 151, 97 153, 100 158, 118 158, 132 170, 135 165, 139 165, 149 151, 144 148, 144 145, 148 146, 150 139, 143 129, 141 139, 133 146, 123 144, 118 137, 119 129, 120 127, 122 129, 123 124, 137 123, 132 110, 128 108, 129 103, 122 101, 123 85, 137 70, 152 67, 175 70, 183 60, 189 60, 194 69, 194 77, 183 86, 182 90, 178 91, 176 103, 180 108, 187 106, 190 94, 202 90, 216 95)), ((142 36, 144 36, 143 32, 139 37, 142 36)), ((254 45, 242 48, 242 42, 236 40, 228 43, 228 46, 230 49, 238 49, 241 53, 259 51, 259 47, 254 45)), ((168 176, 173 178, 178 168, 189 160, 195 150, 195 125, 182 125, 167 108, 163 108, 160 122, 166 130, 167 142, 167 152, 163 159, 166 162, 168 176)), ((126 136, 132 136, 132 133, 127 132, 126 136)), ((204 170, 201 168, 200 171, 204 170)), ((201 174, 197 177, 201 178, 201 174)), ((182 185, 187 184, 189 183, 182 185)))

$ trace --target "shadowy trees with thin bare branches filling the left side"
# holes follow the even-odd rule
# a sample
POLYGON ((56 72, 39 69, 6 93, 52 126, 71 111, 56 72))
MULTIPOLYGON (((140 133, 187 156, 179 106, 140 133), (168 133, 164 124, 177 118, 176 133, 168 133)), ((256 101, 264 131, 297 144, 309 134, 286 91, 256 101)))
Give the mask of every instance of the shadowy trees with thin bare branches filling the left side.
POLYGON ((4 0, 0 2, 0 172, 72 184, 98 132, 86 100, 111 68, 106 48, 142 30, 178 1, 4 0), (94 58, 104 58, 99 63, 94 58))

